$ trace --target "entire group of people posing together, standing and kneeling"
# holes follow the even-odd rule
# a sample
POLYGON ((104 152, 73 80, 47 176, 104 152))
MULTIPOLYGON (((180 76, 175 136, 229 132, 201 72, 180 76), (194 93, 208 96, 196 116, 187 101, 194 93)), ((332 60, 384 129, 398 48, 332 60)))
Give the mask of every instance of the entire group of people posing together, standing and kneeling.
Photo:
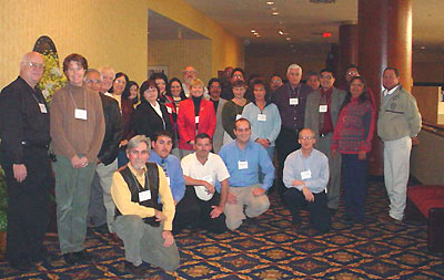
MULTIPOLYGON (((142 261, 175 270, 174 235, 185 228, 220 234, 258 222, 272 187, 296 226, 306 207, 311 224, 327 232, 341 185, 346 221, 365 221, 375 97, 354 65, 345 90, 327 69, 301 83, 297 64, 287 68, 285 83, 280 75, 246 83, 242 69, 226 68, 205 87, 186 66, 183 82, 155 73, 139 87, 109 66, 90 69, 74 53, 63 61, 68 84, 50 106, 37 87, 43 69, 41 54, 27 53, 19 77, 0 94, 7 259, 16 269, 48 258, 54 178, 64 261, 92 260, 84 240, 93 226, 123 241, 125 270, 135 276, 142 261)), ((410 148, 421 129, 415 100, 398 79, 396 69, 385 69, 377 121, 391 199, 386 221, 403 218, 410 148)))

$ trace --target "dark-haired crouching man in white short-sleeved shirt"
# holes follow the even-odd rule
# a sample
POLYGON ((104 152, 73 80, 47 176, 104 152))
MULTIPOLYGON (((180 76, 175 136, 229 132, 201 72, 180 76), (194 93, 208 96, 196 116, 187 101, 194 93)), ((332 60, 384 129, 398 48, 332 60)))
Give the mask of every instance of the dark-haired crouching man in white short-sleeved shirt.
POLYGON ((195 136, 195 153, 182 158, 183 177, 194 186, 195 203, 200 206, 200 227, 212 232, 226 230, 225 203, 230 174, 219 155, 210 153, 211 137, 205 133, 195 136))

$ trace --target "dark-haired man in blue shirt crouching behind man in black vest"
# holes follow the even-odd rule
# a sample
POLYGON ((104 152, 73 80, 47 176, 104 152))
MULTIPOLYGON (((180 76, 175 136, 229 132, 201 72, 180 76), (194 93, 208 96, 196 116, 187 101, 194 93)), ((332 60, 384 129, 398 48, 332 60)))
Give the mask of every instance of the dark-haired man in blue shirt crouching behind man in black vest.
POLYGON ((200 208, 194 203, 192 189, 185 191, 185 179, 179 158, 170 154, 173 146, 172 138, 170 132, 155 133, 151 139, 152 151, 148 162, 157 163, 167 175, 167 182, 170 185, 175 205, 173 220, 173 234, 175 235, 185 227, 195 224, 200 208))

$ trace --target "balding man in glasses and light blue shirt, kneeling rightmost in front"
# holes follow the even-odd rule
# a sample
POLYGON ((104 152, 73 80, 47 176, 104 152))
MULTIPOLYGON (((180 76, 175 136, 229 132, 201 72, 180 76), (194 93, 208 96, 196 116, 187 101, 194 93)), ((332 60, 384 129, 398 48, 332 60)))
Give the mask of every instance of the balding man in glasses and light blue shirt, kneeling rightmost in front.
POLYGON ((315 142, 313 131, 304 128, 300 132, 301 148, 291 153, 284 163, 283 182, 287 188, 284 201, 293 216, 293 225, 301 222, 299 211, 306 205, 313 226, 327 232, 331 225, 326 207, 329 158, 313 148, 315 142))

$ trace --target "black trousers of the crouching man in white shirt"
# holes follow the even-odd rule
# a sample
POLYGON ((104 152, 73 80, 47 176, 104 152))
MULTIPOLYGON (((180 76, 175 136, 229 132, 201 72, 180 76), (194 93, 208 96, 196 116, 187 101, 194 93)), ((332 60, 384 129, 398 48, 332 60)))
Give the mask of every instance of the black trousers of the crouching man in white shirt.
POLYGON ((218 206, 219 201, 218 191, 210 200, 204 201, 198 198, 193 186, 186 186, 185 195, 175 206, 173 232, 179 234, 188 226, 216 234, 224 232, 226 230, 225 215, 222 212, 215 219, 210 216, 213 210, 212 206, 218 206))

